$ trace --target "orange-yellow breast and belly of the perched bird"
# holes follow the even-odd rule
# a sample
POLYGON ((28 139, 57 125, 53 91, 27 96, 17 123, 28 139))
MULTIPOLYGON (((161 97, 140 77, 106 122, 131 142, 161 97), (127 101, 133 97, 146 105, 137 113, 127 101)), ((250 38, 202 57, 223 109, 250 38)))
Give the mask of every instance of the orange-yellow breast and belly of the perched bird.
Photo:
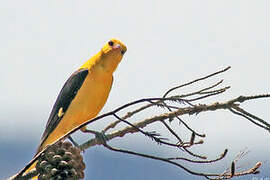
POLYGON ((58 126, 68 131, 97 116, 107 101, 112 76, 89 73, 58 126))

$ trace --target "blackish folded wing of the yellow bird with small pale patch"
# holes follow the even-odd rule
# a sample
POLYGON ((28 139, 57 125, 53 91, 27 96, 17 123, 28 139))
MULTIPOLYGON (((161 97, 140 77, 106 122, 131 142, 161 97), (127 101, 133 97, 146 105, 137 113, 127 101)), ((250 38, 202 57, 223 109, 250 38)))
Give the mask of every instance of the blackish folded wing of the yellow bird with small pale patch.
POLYGON ((81 88, 87 74, 88 69, 77 70, 68 78, 68 80, 62 87, 46 124, 46 129, 42 135, 39 147, 43 144, 43 142, 47 139, 48 135, 61 121, 63 116, 59 116, 59 110, 62 108, 61 111, 63 113, 66 112, 72 100, 75 98, 77 92, 81 88))

